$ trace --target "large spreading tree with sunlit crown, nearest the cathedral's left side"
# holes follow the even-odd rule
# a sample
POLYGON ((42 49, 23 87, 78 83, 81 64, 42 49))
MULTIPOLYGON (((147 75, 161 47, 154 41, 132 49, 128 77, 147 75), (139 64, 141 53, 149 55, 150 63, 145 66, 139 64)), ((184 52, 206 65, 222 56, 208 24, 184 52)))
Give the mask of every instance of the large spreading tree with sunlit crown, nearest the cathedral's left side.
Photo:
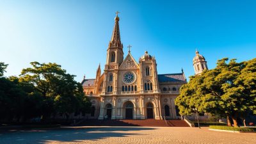
POLYGON ((90 109, 90 102, 84 96, 81 84, 74 81, 74 75, 67 74, 56 63, 41 64, 35 61, 31 65, 32 68, 22 70, 20 81, 35 86, 35 90, 44 97, 43 117, 59 113, 68 118, 83 104, 90 109))

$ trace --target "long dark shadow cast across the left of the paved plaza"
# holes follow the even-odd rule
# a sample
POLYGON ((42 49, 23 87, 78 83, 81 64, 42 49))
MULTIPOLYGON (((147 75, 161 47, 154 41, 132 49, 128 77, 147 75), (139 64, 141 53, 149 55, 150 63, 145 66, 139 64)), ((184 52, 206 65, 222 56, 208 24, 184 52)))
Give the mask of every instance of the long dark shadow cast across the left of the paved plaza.
POLYGON ((109 137, 140 135, 139 131, 154 130, 147 127, 72 127, 49 130, 29 130, 0 133, 0 143, 46 143, 48 141, 97 141, 109 137), (127 131, 135 131, 127 133, 127 131), (136 132, 138 131, 138 132, 136 132))

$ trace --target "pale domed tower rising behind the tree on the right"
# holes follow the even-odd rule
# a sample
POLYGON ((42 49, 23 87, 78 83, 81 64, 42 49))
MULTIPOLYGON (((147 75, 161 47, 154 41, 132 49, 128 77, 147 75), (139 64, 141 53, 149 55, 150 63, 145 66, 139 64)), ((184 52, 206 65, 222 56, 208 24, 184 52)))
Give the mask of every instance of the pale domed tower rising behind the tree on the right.
POLYGON ((193 66, 195 69, 195 75, 200 75, 204 70, 208 70, 207 61, 204 56, 199 54, 196 50, 196 56, 193 58, 193 66))

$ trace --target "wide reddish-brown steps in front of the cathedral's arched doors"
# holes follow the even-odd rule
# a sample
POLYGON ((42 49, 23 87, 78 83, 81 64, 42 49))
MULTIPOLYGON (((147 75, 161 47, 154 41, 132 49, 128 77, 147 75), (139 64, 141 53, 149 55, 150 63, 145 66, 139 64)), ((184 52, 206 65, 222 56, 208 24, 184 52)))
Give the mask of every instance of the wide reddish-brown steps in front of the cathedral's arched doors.
POLYGON ((84 120, 84 126, 189 127, 184 120, 84 120))

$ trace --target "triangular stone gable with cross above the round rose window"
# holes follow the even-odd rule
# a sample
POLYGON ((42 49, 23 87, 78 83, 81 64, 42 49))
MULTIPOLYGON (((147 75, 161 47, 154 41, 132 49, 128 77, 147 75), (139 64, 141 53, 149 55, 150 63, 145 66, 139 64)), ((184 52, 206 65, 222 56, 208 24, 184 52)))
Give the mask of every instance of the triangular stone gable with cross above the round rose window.
POLYGON ((139 68, 138 63, 134 60, 130 53, 127 54, 126 58, 120 65, 120 69, 139 68))

